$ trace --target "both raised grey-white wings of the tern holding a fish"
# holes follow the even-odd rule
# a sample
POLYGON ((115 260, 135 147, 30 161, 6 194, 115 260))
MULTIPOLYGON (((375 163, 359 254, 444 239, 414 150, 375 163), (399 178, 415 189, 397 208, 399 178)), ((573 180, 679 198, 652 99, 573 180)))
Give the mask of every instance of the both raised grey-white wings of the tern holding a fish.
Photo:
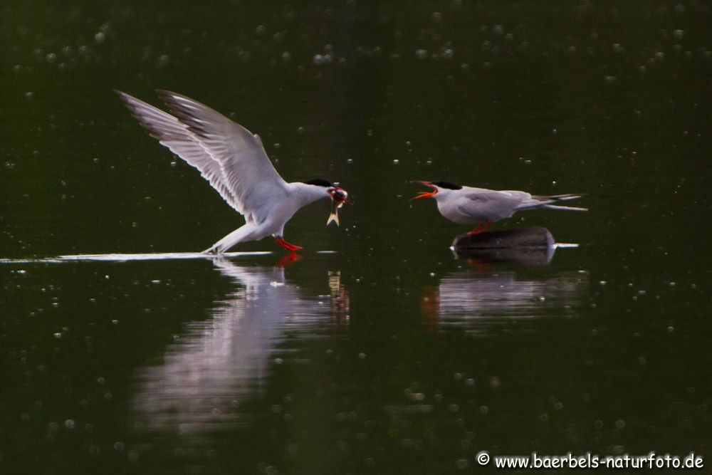
POLYGON ((185 96, 159 91, 175 115, 117 91, 140 124, 159 142, 199 169, 220 196, 247 221, 266 218, 266 204, 286 193, 286 182, 262 142, 241 125, 185 96))

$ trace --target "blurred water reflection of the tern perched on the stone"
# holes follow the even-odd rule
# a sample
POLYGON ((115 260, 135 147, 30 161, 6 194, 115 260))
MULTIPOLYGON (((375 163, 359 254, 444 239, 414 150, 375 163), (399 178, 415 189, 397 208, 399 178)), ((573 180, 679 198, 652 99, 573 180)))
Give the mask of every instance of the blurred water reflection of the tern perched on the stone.
POLYGON ((523 278, 514 271, 472 269, 422 288, 421 310, 428 328, 459 325, 487 333, 517 320, 575 315, 585 304, 587 288, 585 272, 523 278))

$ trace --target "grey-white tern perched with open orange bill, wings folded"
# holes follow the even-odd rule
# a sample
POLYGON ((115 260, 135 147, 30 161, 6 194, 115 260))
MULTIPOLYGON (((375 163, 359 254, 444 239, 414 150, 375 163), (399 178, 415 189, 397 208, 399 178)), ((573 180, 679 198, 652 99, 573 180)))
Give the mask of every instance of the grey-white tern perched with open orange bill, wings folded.
POLYGON ((477 224, 469 234, 487 231, 493 222, 509 218, 521 209, 565 209, 567 211, 588 211, 586 208, 563 207, 555 203, 580 198, 580 194, 555 194, 537 196, 515 190, 497 191, 486 188, 463 187, 449 182, 423 182, 433 189, 420 192, 419 198, 434 198, 438 211, 457 224, 477 224))

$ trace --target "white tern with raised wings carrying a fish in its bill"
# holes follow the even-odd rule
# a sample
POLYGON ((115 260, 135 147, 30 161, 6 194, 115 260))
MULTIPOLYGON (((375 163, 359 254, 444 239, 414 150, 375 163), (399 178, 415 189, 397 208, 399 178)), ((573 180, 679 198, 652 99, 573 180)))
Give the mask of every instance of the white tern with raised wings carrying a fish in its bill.
POLYGON ((197 100, 157 90, 171 114, 131 95, 116 93, 140 124, 201 176, 245 217, 245 224, 203 251, 222 254, 245 241, 273 236, 288 251, 302 249, 283 239, 284 226, 302 207, 331 198, 331 221, 339 224, 338 209, 347 201, 345 189, 325 179, 288 183, 267 157, 262 140, 197 100))

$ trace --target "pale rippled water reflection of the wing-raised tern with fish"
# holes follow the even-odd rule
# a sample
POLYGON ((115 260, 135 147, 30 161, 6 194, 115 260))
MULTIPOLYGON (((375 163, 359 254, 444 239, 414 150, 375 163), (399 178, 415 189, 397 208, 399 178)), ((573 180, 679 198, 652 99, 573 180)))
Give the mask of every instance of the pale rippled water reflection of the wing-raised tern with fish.
POLYGON ((161 364, 137 373, 136 427, 199 434, 240 424, 239 407, 257 394, 271 365, 305 364, 278 346, 288 335, 313 336, 345 325, 349 298, 339 273, 328 273, 330 295, 305 297, 283 267, 214 265, 240 286, 215 303, 211 318, 187 325, 161 364), (281 356, 281 357, 278 357, 281 356))

